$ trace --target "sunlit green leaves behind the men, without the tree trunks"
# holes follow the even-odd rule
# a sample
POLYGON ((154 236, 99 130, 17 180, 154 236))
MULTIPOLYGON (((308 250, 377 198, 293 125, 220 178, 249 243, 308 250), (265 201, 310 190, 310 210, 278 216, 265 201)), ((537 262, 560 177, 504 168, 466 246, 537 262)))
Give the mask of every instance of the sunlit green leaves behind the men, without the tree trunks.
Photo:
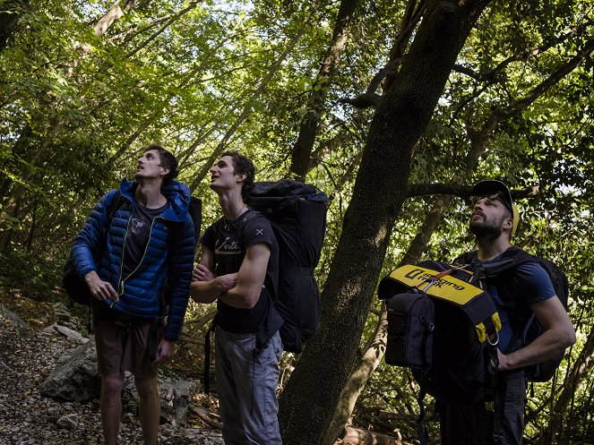
MULTIPOLYGON (((291 151, 331 40, 336 2, 138 1, 101 36, 93 27, 111 2, 31 0, 13 9, 15 4, 22 6, 0 2, 0 12, 22 13, 0 49, 0 255, 10 265, 2 270, 3 287, 56 287, 92 204, 133 174, 135 158, 150 142, 176 153, 180 179, 202 198, 204 227, 218 218, 205 172, 216 150, 253 157, 262 179, 291 175, 291 151)), ((331 196, 317 269, 322 286, 373 118, 373 109, 340 99, 364 92, 388 62, 405 7, 360 4, 331 81, 307 177, 331 196)), ((578 343, 556 381, 535 386, 527 443, 539 443, 555 415, 563 423, 554 443, 594 442, 593 359, 586 347, 593 335, 594 287, 591 51, 529 107, 501 118, 486 133, 478 166, 470 175, 459 172, 490 118, 529 98, 587 47, 593 20, 592 5, 578 0, 492 4, 461 50, 412 166, 411 184, 469 185, 497 177, 514 189, 538 186, 536 196, 519 201, 514 244, 567 271, 578 343), (584 351, 590 356, 581 356, 584 351), (582 375, 572 403, 555 413, 549 396, 568 387, 578 365, 582 375)), ((430 195, 406 201, 385 272, 400 261, 434 202, 430 195)), ((454 198, 424 249, 426 257, 452 259, 472 247, 468 204, 454 198)), ((202 312, 192 305, 189 317, 202 312)), ((376 321, 370 313, 362 347, 376 321)), ((414 415, 413 387, 407 372, 381 365, 359 399, 358 418, 377 431, 398 428, 414 436, 410 422, 385 415, 414 415), (366 411, 370 406, 379 408, 366 411), (374 412, 383 418, 366 414, 374 412)))

